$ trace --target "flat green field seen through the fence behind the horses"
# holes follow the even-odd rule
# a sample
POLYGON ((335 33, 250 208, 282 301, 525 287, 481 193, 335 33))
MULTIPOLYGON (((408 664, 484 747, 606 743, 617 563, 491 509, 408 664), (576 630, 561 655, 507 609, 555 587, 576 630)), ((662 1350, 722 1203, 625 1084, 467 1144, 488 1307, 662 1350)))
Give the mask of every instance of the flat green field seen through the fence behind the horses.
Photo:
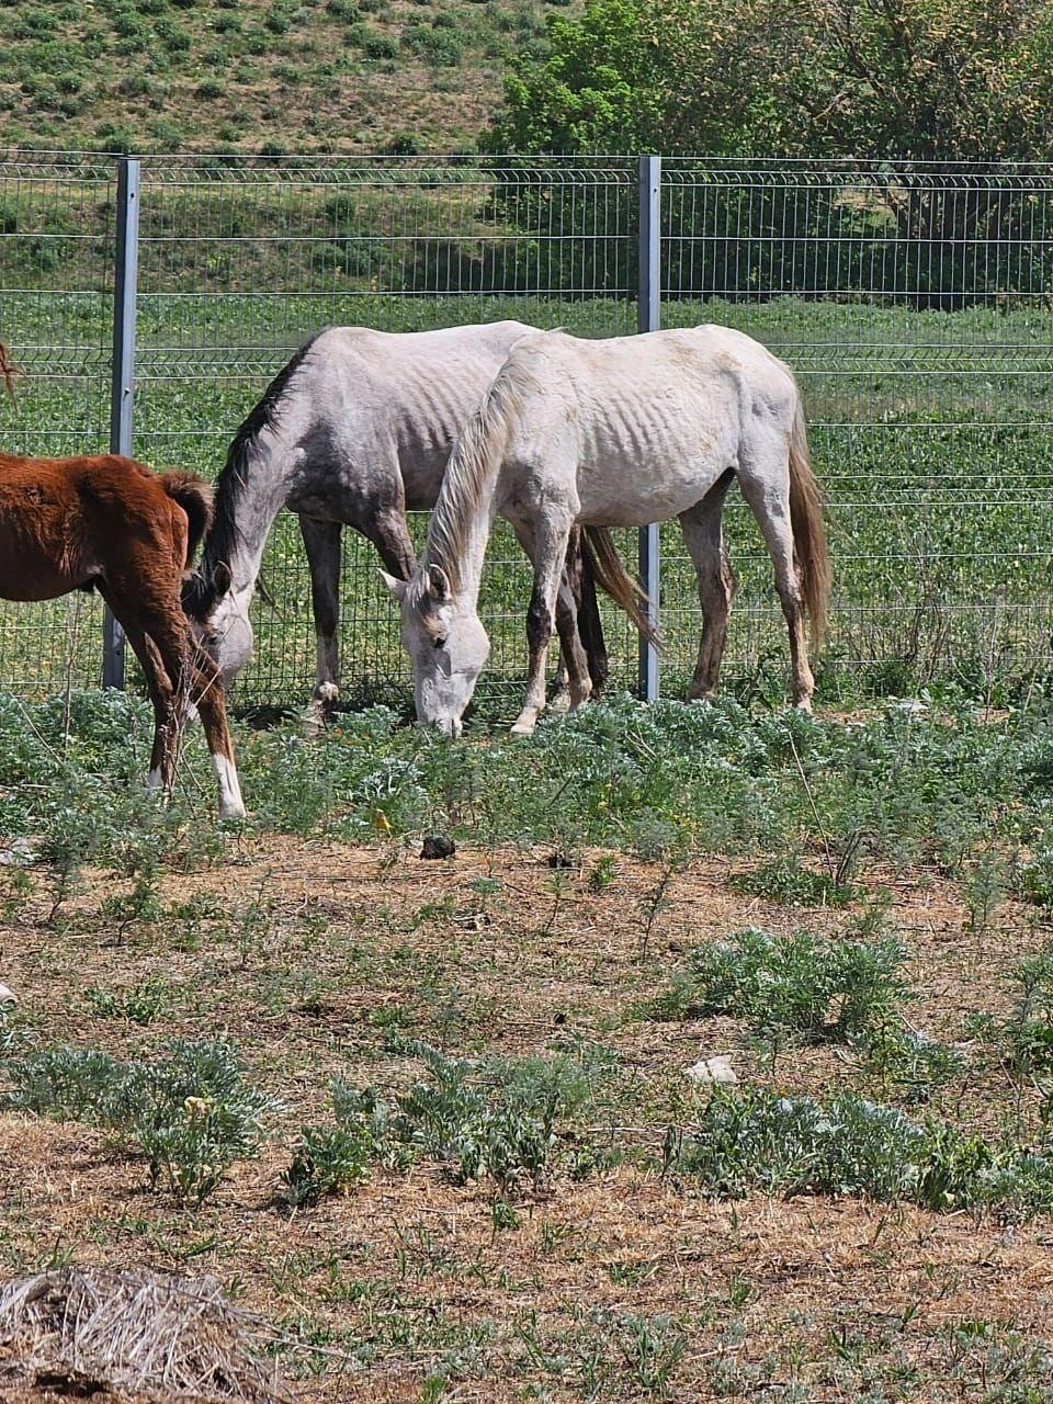
MULTIPOLYGON (((234 428, 289 351, 326 322, 411 330, 519 317, 600 336, 632 326, 616 299, 444 295, 354 299, 310 295, 292 312, 284 295, 154 295, 140 299, 136 439, 140 458, 213 477, 234 428), (299 322, 291 322, 296 316, 299 322), (396 317, 393 322, 392 319, 396 317)), ((1050 358, 1049 314, 1038 307, 955 313, 875 307, 851 300, 782 298, 765 303, 670 300, 667 326, 713 320, 757 337, 795 369, 809 417, 813 465, 828 508, 834 560, 831 636, 819 698, 915 688, 936 677, 995 692, 1043 670, 1049 657, 1050 358)), ((4 326, 27 347, 107 344, 102 299, 4 293, 4 326), (10 317, 10 322, 8 322, 10 317)), ((72 452, 104 442, 105 361, 37 361, 20 385, 22 411, 0 406, 6 446, 72 452)), ((22 357, 29 368, 31 357, 22 357)), ((417 545, 424 522, 413 524, 417 545)), ((767 553, 739 494, 727 510, 740 592, 729 630, 729 678, 762 696, 783 695, 783 625, 767 553)), ((626 553, 635 550, 629 538, 626 553)), ((664 678, 684 695, 696 647, 694 571, 675 525, 663 536, 664 678)), ((529 577, 500 536, 483 581, 483 618, 494 639, 480 702, 511 713, 522 670, 522 609, 529 577)), ((257 663, 232 694, 234 706, 306 702, 314 656, 306 569, 295 522, 279 518, 264 560, 278 608, 257 605, 257 663)), ((345 691, 409 696, 397 614, 364 542, 345 543, 341 614, 351 668, 345 691)), ((616 681, 635 678, 635 636, 605 615, 616 681)), ((49 625, 0 607, 0 681, 52 688, 97 678, 97 623, 83 612, 49 625), (72 647, 55 639, 76 635, 72 647)))

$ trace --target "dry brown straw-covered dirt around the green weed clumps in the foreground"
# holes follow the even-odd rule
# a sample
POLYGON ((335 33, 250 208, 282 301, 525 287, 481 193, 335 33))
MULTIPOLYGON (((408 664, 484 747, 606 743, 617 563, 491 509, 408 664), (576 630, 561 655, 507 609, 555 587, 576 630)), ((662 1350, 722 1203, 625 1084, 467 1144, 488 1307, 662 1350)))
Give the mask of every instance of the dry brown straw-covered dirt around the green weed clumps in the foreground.
MULTIPOLYGON (((908 949, 911 1024, 965 1046, 967 1016, 1004 1011, 1007 969, 1046 935, 1033 914, 1005 903, 972 934, 959 890, 935 873, 873 870, 852 907, 788 910, 729 887, 724 861, 671 870, 619 856, 611 870, 600 854, 567 869, 550 858, 239 841, 222 866, 166 875, 146 920, 114 915, 102 875, 51 915, 55 893, 34 872, 0 918, 0 976, 45 1042, 124 1056, 223 1036, 281 1108, 264 1153, 195 1212, 150 1192, 143 1165, 95 1130, 0 1115, 6 1275, 66 1262, 211 1273, 293 1397, 317 1404, 1001 1398, 991 1390, 1011 1375, 1049 1390, 1047 1220, 710 1202, 658 1170, 667 1126, 689 1123, 687 1066, 722 1053, 743 1081, 823 1091, 848 1075, 847 1054, 772 1060, 727 1019, 640 1016, 692 945, 747 925, 858 929, 882 893, 908 949), (150 981, 161 1007, 146 1025, 100 994, 150 981), (622 1097, 601 1125, 564 1134, 628 1154, 524 1191, 511 1224, 497 1224, 493 1185, 452 1184, 427 1161, 289 1217, 279 1175, 299 1126, 331 1120, 329 1080, 390 1092, 420 1075, 393 1033, 458 1053, 602 1043, 622 1097)), ((951 1098, 997 1134, 1011 1092, 988 1068, 951 1098)), ((45 1397, 0 1373, 0 1400, 45 1397)))

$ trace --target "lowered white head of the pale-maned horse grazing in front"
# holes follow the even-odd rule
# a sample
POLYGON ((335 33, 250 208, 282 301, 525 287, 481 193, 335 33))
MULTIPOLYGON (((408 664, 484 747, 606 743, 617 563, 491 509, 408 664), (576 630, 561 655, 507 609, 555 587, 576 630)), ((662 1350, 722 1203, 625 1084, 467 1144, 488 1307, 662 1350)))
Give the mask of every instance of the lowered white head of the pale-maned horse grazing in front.
POLYGON ((410 580, 380 576, 402 605, 402 642, 413 663, 417 720, 461 736, 461 719, 490 656, 475 605, 458 598, 441 566, 421 564, 410 580))

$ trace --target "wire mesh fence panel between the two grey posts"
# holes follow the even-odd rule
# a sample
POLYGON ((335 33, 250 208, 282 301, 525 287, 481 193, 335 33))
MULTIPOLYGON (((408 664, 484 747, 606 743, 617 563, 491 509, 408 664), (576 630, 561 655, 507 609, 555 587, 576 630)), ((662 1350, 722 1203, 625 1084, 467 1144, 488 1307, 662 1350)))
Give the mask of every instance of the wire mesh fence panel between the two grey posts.
MULTIPOLYGON (((215 476, 268 380, 333 323, 416 331, 517 317, 590 336, 633 330, 636 199, 632 160, 143 159, 136 452, 215 476)), ((420 541, 425 522, 411 525, 420 541)), ((409 681, 378 564, 365 539, 344 532, 352 699, 409 681)), ((289 514, 263 578, 277 605, 254 605, 257 654, 236 701, 288 705, 309 695, 314 674, 306 559, 289 514)), ((524 671, 528 597, 525 559, 501 528, 482 598, 491 694, 524 671)), ((616 681, 632 687, 636 640, 622 618, 608 612, 607 623, 616 681)))

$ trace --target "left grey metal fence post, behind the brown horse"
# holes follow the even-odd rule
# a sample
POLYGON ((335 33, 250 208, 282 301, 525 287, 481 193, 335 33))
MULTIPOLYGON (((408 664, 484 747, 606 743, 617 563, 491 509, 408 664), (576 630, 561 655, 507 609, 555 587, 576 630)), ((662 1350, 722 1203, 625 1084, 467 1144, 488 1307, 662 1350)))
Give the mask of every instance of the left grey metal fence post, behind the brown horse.
MULTIPOLYGON (((139 271, 139 161, 117 167, 117 261, 114 268, 114 362, 110 382, 110 452, 132 453, 135 399, 135 293, 139 271)), ((102 687, 125 685, 125 632, 110 609, 102 621, 102 687)))

